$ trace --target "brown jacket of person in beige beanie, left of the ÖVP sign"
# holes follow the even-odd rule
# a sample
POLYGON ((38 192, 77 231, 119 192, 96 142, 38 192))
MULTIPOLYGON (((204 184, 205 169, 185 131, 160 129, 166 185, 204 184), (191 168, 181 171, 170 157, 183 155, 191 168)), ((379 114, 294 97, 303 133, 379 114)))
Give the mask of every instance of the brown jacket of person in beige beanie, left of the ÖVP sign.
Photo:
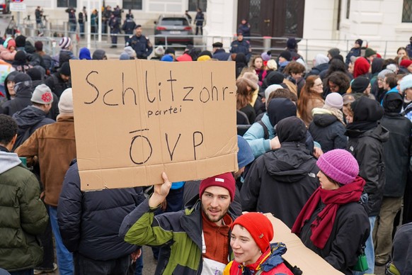
POLYGON ((76 158, 73 116, 58 116, 57 123, 44 125, 35 130, 28 140, 16 149, 20 157, 28 157, 33 165, 37 156, 40 178, 45 188, 45 203, 57 206, 62 191, 64 174, 72 159, 76 158))

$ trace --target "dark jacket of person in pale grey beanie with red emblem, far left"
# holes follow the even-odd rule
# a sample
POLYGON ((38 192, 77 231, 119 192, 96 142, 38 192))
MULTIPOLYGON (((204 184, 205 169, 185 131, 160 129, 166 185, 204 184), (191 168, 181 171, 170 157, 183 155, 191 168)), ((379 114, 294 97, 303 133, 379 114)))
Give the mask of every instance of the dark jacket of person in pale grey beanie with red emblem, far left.
POLYGON ((16 120, 18 125, 17 140, 13 146, 14 149, 23 144, 36 129, 43 125, 55 123, 55 120, 46 118, 46 113, 35 106, 27 106, 23 110, 14 113, 13 119, 16 120))

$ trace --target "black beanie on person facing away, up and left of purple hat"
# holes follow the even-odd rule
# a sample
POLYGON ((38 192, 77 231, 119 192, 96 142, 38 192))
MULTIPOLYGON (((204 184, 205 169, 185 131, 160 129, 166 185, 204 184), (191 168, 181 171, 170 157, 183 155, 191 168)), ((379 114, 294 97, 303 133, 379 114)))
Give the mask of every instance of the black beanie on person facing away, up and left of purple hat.
POLYGON ((276 125, 276 133, 279 142, 299 142, 305 143, 307 128, 303 120, 297 116, 283 118, 276 125))

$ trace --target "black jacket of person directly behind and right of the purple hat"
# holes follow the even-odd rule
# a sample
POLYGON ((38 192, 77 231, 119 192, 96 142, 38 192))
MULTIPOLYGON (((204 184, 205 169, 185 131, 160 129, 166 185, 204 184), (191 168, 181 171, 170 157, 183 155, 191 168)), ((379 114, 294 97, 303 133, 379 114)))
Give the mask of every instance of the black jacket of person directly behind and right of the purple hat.
POLYGON ((365 209, 370 216, 379 215, 384 193, 384 145, 389 139, 387 128, 378 125, 371 130, 346 130, 348 150, 359 164, 359 176, 365 179, 368 195, 365 209))

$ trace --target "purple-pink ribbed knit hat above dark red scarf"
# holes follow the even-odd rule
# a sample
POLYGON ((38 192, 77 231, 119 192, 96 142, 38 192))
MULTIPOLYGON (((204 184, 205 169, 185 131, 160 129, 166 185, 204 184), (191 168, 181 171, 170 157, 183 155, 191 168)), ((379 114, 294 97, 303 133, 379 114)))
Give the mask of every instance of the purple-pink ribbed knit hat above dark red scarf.
POLYGON ((350 152, 335 149, 326 152, 316 162, 321 172, 339 184, 350 184, 359 174, 359 165, 350 152))

